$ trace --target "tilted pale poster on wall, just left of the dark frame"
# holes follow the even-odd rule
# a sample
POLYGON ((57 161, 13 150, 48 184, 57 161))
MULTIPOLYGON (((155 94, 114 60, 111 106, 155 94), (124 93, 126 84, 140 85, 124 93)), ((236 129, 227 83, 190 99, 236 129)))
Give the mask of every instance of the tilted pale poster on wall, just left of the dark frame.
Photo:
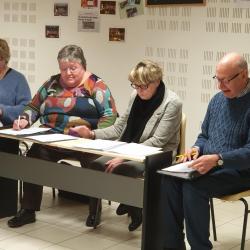
POLYGON ((130 18, 143 15, 143 0, 125 0, 119 2, 120 18, 130 18))

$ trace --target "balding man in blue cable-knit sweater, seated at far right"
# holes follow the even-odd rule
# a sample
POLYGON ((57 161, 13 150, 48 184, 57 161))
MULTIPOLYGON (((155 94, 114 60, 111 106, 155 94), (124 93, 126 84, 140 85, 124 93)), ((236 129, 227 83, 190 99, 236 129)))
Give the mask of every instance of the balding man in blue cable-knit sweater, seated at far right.
POLYGON ((246 60, 226 54, 213 77, 221 90, 208 105, 201 133, 182 161, 201 177, 193 181, 164 177, 162 249, 184 250, 186 235, 192 250, 210 250, 209 198, 250 188, 250 83, 246 60))

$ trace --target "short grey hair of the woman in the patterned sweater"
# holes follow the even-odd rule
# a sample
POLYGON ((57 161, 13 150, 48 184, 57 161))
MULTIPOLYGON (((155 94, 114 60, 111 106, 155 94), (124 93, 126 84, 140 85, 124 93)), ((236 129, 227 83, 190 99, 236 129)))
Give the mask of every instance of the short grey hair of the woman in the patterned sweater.
POLYGON ((82 49, 77 45, 66 45, 58 52, 57 60, 59 61, 76 61, 82 64, 86 70, 86 59, 84 57, 82 49))

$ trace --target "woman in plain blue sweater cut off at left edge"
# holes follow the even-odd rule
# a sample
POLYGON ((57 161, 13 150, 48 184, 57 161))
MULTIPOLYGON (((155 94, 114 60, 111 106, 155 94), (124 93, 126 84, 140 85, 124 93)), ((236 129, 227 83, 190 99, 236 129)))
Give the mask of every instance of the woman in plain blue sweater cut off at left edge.
MULTIPOLYGON (((11 126, 30 101, 30 89, 23 74, 8 66, 10 48, 6 40, 0 39, 0 127, 11 126)), ((19 142, 1 138, 0 151, 18 154, 19 142)), ((17 210, 17 181, 0 178, 0 199, 4 206, 0 217, 10 216, 17 210)))

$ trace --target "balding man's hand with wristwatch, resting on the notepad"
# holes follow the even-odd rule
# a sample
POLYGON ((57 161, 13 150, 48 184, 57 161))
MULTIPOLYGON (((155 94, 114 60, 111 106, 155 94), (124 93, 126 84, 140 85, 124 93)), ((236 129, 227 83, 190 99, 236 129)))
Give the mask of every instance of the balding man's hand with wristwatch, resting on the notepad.
POLYGON ((206 174, 213 167, 217 166, 219 155, 202 155, 198 159, 194 160, 189 166, 197 170, 200 174, 206 174))

